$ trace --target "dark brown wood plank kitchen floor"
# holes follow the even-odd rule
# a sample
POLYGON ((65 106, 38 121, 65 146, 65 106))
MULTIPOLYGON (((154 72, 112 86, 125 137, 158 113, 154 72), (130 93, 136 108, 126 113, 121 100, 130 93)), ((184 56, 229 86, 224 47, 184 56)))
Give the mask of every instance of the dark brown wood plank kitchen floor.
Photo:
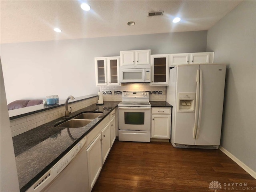
POLYGON ((216 192, 256 192, 256 180, 220 150, 116 140, 92 191, 214 192, 209 188, 212 181, 222 186, 216 192))

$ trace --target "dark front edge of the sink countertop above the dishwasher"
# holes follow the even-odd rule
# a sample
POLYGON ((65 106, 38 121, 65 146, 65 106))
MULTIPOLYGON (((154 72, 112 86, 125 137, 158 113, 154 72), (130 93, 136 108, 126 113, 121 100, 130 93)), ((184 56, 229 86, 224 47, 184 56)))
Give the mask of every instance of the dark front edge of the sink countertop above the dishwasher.
MULTIPOLYGON (((112 112, 118 105, 110 110, 104 117, 102 117, 96 124, 94 124, 87 132, 85 132, 79 139, 77 139, 72 145, 70 145, 64 152, 62 152, 56 159, 54 159, 48 166, 46 166, 41 172, 39 172, 34 178, 32 178, 27 184, 20 188, 20 192, 26 192, 36 181, 38 181, 47 171, 49 171, 62 157, 64 157, 78 142, 82 140, 94 127, 96 127, 110 112, 112 112)), ((70 119, 70 118, 69 118, 70 119)))

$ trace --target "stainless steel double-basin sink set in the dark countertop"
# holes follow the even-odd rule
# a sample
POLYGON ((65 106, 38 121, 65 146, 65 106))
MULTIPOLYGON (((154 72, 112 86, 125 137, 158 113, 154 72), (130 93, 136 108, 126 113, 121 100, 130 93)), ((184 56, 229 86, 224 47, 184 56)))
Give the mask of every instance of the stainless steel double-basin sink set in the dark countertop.
POLYGON ((83 112, 73 117, 72 119, 63 122, 61 124, 56 124, 55 127, 67 127, 67 128, 79 128, 86 126, 92 120, 96 119, 103 112, 83 112))

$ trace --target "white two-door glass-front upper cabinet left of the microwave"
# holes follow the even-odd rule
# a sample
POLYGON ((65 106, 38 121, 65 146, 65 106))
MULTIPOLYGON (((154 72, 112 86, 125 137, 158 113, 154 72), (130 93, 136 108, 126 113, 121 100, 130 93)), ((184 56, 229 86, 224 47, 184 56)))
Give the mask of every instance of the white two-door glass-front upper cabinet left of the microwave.
POLYGON ((119 57, 95 58, 96 86, 119 86, 119 57))

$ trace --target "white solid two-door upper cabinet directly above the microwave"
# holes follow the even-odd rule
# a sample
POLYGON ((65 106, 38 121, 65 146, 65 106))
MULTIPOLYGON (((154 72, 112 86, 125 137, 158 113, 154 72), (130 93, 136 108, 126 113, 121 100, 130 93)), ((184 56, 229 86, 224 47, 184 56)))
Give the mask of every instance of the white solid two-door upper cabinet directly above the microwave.
POLYGON ((150 68, 150 50, 120 51, 120 69, 150 68))

